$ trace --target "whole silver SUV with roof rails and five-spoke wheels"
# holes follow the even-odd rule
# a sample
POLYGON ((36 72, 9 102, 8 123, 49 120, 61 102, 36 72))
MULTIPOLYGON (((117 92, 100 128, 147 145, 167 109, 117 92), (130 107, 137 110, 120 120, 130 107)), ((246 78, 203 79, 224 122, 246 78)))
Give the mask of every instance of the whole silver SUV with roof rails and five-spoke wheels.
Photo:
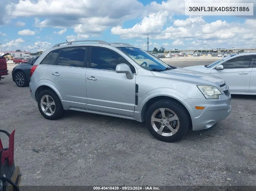
POLYGON ((168 65, 126 43, 59 43, 42 53, 30 75, 31 97, 46 119, 76 110, 145 121, 165 142, 190 127, 209 129, 231 112, 221 78, 168 65))

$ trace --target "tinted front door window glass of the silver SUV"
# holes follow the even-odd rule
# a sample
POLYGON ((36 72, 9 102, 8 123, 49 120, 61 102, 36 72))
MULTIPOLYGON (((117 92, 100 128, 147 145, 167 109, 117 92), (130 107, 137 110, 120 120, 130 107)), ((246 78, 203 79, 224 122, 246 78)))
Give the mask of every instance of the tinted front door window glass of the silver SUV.
POLYGON ((132 73, 136 72, 134 66, 118 53, 97 46, 91 48, 91 68, 115 71, 116 66, 121 63, 129 65, 132 73))

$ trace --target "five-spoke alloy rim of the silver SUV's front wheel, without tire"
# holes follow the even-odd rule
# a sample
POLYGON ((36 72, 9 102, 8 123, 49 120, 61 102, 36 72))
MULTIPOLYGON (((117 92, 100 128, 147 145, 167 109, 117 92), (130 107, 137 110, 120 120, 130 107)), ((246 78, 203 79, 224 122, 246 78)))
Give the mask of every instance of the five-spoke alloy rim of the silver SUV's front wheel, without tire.
POLYGON ((180 122, 178 116, 172 110, 159 108, 151 116, 151 125, 158 134, 172 136, 178 131, 180 122))

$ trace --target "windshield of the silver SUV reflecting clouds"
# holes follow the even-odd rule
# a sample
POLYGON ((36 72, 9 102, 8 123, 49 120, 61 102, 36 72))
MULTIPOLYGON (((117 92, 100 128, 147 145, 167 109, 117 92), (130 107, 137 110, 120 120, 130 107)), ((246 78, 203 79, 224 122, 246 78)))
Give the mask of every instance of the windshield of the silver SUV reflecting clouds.
POLYGON ((151 71, 164 71, 168 69, 175 69, 176 67, 167 65, 165 62, 161 61, 152 54, 134 47, 118 47, 119 50, 128 55, 142 68, 151 71))

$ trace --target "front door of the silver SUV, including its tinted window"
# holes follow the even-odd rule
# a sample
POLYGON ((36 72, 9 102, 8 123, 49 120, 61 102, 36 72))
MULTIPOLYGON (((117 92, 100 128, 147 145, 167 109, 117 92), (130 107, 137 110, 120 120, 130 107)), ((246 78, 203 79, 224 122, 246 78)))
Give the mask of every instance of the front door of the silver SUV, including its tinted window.
MULTIPOLYGON (((103 47, 91 47, 91 62, 86 71, 87 108, 90 110, 135 115, 135 77, 115 72, 116 65, 129 65, 118 53, 103 47)), ((130 64, 130 67, 133 67, 130 64)), ((135 72, 135 68, 131 68, 135 72)))

